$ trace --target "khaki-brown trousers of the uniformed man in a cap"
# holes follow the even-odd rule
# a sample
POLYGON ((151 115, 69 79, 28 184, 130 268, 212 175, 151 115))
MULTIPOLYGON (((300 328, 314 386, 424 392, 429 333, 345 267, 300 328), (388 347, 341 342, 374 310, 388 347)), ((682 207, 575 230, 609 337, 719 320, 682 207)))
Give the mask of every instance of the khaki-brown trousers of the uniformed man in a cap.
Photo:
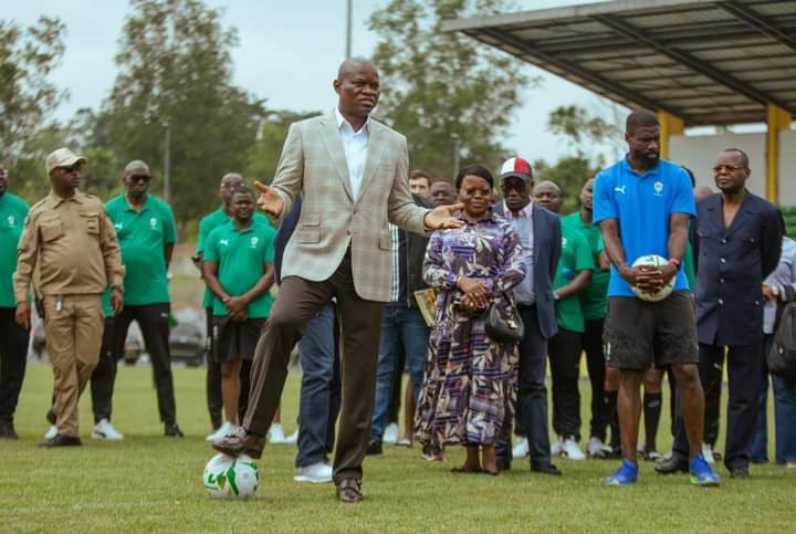
POLYGON ((100 295, 44 297, 46 349, 53 366, 53 412, 62 436, 77 437, 77 401, 100 359, 104 320, 100 295))

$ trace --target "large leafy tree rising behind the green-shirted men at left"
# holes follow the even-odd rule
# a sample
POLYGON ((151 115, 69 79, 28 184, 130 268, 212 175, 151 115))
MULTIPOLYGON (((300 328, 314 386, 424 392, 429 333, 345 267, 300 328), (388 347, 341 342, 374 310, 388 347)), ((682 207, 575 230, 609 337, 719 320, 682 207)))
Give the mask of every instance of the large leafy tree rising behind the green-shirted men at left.
MULTIPOLYGON (((133 0, 107 114, 119 163, 143 159, 157 178, 170 134, 171 198, 178 220, 214 208, 218 180, 243 169, 264 115, 263 103, 233 86, 234 29, 200 0, 133 0)), ((97 136, 102 137, 102 132, 97 136)), ((118 172, 117 172, 118 174, 118 172)))

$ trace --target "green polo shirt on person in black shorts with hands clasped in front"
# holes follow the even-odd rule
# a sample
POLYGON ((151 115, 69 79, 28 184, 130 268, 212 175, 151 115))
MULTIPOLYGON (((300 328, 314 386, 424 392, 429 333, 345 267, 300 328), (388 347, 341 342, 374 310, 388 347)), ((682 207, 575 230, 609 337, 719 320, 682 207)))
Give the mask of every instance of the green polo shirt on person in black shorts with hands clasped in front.
MULTIPOLYGON (((210 232, 205 241, 205 261, 218 262, 218 280, 230 296, 240 296, 254 287, 263 274, 265 263, 273 262, 273 239, 276 232, 270 226, 252 222, 238 230, 233 221, 210 232)), ((247 305, 250 318, 265 318, 271 313, 273 296, 265 292, 247 305)), ((213 299, 213 315, 227 315, 227 308, 213 299)))

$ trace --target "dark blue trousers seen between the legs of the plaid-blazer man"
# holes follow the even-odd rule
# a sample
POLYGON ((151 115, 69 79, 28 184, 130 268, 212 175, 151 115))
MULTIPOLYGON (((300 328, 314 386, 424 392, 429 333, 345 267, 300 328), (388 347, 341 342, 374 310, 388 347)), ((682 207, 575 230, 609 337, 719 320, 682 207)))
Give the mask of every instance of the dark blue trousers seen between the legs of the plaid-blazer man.
POLYGON ((302 363, 296 468, 326 462, 339 413, 339 331, 334 303, 326 303, 298 342, 302 363))

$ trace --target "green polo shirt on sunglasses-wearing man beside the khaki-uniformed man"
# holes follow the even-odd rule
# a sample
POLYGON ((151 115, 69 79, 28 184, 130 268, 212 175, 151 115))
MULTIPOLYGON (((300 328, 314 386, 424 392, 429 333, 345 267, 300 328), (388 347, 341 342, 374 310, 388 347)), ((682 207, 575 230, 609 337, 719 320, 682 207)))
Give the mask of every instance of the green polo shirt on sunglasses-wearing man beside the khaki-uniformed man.
POLYGON ((142 210, 136 211, 121 195, 111 200, 105 209, 122 248, 125 304, 139 306, 168 303, 165 245, 177 241, 171 207, 147 195, 142 210))

